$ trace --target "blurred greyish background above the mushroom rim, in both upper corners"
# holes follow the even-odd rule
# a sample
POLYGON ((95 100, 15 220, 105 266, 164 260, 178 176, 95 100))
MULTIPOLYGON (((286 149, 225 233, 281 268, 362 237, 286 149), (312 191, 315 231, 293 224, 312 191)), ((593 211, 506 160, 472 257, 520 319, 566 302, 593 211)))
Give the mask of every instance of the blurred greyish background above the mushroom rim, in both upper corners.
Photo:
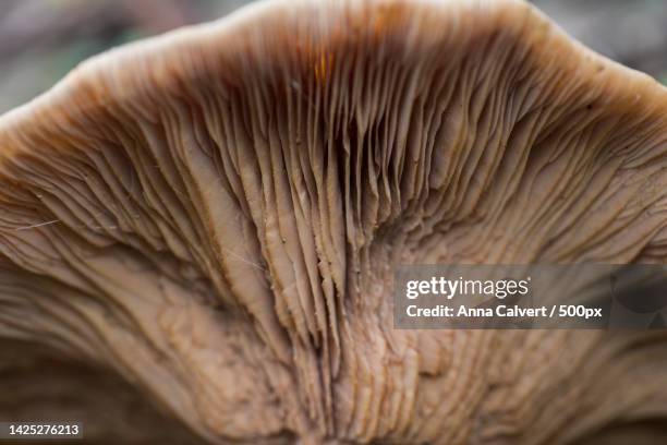
MULTIPOLYGON (((105 49, 248 0, 0 0, 0 113, 105 49)), ((533 0, 569 34, 667 84, 667 0, 533 0)))

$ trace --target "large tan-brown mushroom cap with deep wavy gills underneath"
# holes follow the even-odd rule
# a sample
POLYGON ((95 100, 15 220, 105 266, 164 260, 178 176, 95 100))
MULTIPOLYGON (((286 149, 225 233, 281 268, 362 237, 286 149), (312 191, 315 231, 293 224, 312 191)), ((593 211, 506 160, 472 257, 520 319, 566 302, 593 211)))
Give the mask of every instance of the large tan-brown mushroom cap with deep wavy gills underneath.
POLYGON ((0 118, 0 337, 210 443, 648 440, 665 332, 397 330, 390 296, 399 264, 665 263, 666 113, 517 0, 129 45, 0 118))

